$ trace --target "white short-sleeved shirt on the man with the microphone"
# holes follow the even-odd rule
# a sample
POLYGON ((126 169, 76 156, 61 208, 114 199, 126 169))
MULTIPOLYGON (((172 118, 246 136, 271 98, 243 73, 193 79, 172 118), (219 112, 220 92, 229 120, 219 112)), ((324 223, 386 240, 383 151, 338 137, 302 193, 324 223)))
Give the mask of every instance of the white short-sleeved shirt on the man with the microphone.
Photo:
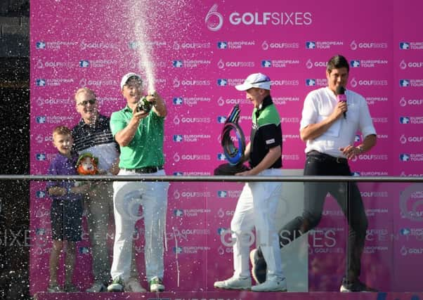
MULTIPOLYGON (((346 118, 340 117, 321 136, 308 140, 305 152, 317 150, 334 157, 345 157, 339 148, 353 145, 357 131, 360 131, 364 138, 370 134, 376 134, 365 98, 350 90, 345 91, 345 95, 348 105, 346 118)), ((329 87, 308 93, 304 100, 300 130, 329 117, 337 103, 337 96, 329 87)))

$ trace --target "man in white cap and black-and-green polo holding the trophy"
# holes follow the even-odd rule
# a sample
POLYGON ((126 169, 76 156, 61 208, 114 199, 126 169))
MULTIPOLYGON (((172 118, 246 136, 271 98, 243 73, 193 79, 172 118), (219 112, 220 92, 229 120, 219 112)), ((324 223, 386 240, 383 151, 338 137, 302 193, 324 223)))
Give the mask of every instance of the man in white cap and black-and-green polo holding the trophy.
MULTIPOLYGON (((282 176, 282 129, 278 110, 271 98, 271 79, 265 74, 254 73, 235 88, 245 91, 247 100, 254 105, 250 142, 245 148, 245 157, 249 160, 251 169, 235 175, 282 176)), ((281 197, 280 182, 245 183, 230 222, 234 239, 234 273, 227 280, 214 282, 214 287, 252 289, 254 292, 287 291, 275 228, 275 214, 281 197), (252 286, 248 253, 254 228, 256 246, 260 245, 263 256, 268 261, 268 268, 266 281, 252 286)))

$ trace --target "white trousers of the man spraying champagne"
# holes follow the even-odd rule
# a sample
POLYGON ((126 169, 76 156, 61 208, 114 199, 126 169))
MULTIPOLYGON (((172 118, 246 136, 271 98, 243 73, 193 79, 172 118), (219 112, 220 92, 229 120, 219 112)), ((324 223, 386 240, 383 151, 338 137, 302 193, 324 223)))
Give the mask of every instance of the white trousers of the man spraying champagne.
MULTIPOLYGON (((152 174, 136 174, 120 170, 118 175, 163 176, 164 170, 152 174)), ((112 279, 120 276, 128 280, 131 275, 131 249, 134 228, 143 219, 145 228, 145 275, 148 281, 157 276, 163 278, 163 242, 166 228, 167 182, 125 182, 113 183, 115 211, 115 243, 110 271, 112 279), (140 205, 142 214, 138 214, 140 205)))

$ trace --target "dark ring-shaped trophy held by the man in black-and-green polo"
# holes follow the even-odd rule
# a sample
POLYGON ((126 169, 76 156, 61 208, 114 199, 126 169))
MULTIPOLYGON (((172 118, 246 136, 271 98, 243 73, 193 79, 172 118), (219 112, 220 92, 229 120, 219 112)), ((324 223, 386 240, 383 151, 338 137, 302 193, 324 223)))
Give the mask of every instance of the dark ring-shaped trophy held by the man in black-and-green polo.
POLYGON ((223 125, 221 134, 221 145, 228 163, 221 164, 214 169, 214 175, 235 175, 249 169, 243 164, 245 159, 245 136, 238 125, 238 119, 240 119, 240 106, 235 105, 223 125), (232 138, 231 133, 234 134, 234 138, 232 138), (237 146, 233 140, 237 142, 237 146))

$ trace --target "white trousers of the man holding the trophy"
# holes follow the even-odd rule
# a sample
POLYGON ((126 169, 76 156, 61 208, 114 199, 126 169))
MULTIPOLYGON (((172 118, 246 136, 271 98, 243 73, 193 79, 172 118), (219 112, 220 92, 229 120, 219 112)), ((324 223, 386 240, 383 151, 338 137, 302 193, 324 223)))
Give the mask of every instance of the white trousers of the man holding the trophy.
MULTIPOLYGON (((259 176, 282 176, 281 169, 267 169, 259 176)), ((278 230, 275 216, 282 197, 280 182, 250 182, 244 185, 237 207, 230 222, 233 244, 233 268, 235 277, 249 278, 249 247, 254 243, 252 230, 256 229, 256 247, 261 248, 267 263, 266 280, 281 280, 278 230)))

